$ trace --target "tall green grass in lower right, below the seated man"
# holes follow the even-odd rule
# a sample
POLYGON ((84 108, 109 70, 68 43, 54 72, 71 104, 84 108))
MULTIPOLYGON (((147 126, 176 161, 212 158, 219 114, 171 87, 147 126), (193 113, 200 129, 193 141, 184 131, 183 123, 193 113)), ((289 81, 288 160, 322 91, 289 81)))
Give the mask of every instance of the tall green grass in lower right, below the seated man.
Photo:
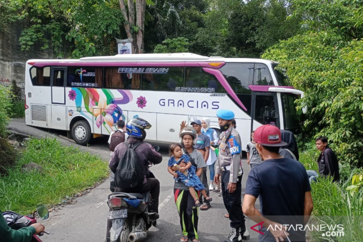
MULTIPOLYGON (((310 149, 300 155, 300 161, 306 170, 317 171, 317 152, 310 149)), ((344 236, 323 237, 320 233, 311 233, 312 241, 363 241, 363 189, 351 195, 346 188, 351 185, 355 174, 363 170, 343 164, 340 166, 340 181, 333 182, 331 177, 318 177, 317 182, 311 183, 311 196, 314 209, 313 222, 322 224, 342 224, 344 236)))

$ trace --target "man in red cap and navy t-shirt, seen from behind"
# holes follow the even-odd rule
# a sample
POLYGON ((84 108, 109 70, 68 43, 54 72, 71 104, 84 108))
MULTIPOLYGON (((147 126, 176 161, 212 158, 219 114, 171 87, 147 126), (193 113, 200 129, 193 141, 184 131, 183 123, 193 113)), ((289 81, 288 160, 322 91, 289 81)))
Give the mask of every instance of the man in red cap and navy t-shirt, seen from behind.
POLYGON ((272 125, 263 125, 254 132, 256 149, 264 162, 252 169, 246 182, 243 213, 262 229, 258 241, 306 241, 305 227, 313 211, 313 199, 305 167, 297 160, 284 158, 279 148, 281 131, 272 125), (254 203, 260 199, 261 211, 254 203), (286 230, 284 225, 289 226, 286 230), (268 230, 267 230, 268 229, 268 230))

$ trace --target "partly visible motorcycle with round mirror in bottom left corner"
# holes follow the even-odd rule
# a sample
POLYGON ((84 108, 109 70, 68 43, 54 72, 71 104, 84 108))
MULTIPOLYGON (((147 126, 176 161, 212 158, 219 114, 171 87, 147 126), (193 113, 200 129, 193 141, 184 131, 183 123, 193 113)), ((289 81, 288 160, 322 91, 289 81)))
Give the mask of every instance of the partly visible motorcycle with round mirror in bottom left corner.
MULTIPOLYGON (((34 212, 32 215, 23 216, 12 211, 5 211, 3 212, 3 216, 11 229, 18 230, 24 227, 28 227, 33 223, 36 223, 37 222, 35 218, 36 213, 42 220, 49 218, 48 208, 44 204, 38 205, 36 212, 34 212)), ((50 234, 46 231, 38 235, 34 234, 30 242, 42 242, 38 236, 42 236, 44 233, 50 234)))

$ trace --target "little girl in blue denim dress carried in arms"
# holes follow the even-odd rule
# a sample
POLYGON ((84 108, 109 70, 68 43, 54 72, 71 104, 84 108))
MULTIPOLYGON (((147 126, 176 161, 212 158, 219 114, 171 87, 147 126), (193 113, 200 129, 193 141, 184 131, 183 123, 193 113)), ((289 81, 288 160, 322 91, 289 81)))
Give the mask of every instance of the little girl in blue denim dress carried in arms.
POLYGON ((187 155, 184 155, 181 151, 180 144, 171 144, 169 146, 169 155, 171 156, 168 162, 168 172, 174 176, 176 181, 183 182, 189 187, 189 192, 194 199, 196 207, 200 206, 198 197, 195 190, 201 191, 204 201, 211 202, 213 199, 207 196, 207 192, 204 190, 204 185, 200 182, 199 177, 195 174, 196 168, 192 166, 190 159, 187 155), (178 171, 172 171, 172 167, 179 168, 178 171))

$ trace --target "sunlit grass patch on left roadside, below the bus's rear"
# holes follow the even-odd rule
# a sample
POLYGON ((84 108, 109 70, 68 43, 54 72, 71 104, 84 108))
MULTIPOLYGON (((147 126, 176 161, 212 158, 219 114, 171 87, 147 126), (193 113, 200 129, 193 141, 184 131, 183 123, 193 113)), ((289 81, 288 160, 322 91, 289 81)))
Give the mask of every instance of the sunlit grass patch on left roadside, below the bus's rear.
POLYGON ((33 212, 38 204, 59 204, 109 174, 101 157, 65 147, 55 138, 30 139, 15 167, 8 171, 0 177, 0 208, 20 214, 33 212), (31 161, 41 165, 42 172, 23 173, 21 166, 31 161))

